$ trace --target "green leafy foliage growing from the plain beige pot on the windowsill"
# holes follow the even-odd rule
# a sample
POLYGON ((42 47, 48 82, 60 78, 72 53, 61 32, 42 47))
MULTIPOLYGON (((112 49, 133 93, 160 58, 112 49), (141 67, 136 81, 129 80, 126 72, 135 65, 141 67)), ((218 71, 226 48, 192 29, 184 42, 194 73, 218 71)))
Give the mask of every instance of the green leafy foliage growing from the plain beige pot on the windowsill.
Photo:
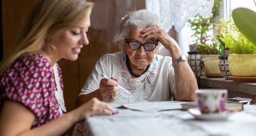
POLYGON ((199 52, 201 54, 218 54, 218 45, 216 42, 213 42, 214 40, 209 32, 211 32, 213 29, 215 17, 218 15, 219 4, 221 4, 221 1, 214 1, 212 13, 209 18, 204 19, 197 14, 193 19, 188 21, 191 24, 191 29, 195 31, 195 33, 192 35, 192 37, 196 38, 194 45, 199 47, 199 52), (209 44, 210 42, 213 43, 209 44))

